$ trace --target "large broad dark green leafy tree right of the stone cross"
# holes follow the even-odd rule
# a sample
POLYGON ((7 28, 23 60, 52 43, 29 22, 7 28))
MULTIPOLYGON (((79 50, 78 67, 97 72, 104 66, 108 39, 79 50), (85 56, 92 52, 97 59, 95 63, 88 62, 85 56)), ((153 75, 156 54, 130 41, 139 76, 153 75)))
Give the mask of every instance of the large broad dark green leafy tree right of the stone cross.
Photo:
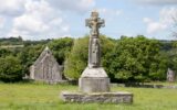
POLYGON ((159 80, 166 72, 166 61, 159 54, 160 43, 144 36, 122 37, 106 55, 106 72, 112 79, 144 81, 159 80), (159 65, 160 64, 160 65, 159 65))

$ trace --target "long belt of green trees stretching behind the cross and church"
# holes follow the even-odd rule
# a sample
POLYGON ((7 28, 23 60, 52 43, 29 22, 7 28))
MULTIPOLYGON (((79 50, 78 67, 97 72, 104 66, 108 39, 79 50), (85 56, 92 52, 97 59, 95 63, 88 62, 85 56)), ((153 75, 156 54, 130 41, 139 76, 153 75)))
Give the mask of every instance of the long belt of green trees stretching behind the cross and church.
MULTIPOLYGON (((30 66, 46 45, 58 63, 64 64, 65 75, 77 79, 87 65, 88 36, 41 41, 23 41, 21 36, 0 38, 0 58, 17 57, 22 64, 22 73, 29 74, 30 66)), ((176 47, 175 41, 148 40, 144 36, 114 40, 101 35, 102 66, 112 81, 164 80, 168 67, 177 72, 176 47)))

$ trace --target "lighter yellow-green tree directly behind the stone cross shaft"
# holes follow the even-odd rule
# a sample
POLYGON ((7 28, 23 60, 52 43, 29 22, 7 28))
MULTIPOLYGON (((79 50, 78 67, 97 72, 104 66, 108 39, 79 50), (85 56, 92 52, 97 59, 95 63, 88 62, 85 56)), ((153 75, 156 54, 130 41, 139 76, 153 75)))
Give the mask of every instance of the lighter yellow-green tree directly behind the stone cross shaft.
MULTIPOLYGON (((101 35, 102 59, 114 47, 114 40, 101 35)), ((77 38, 64 64, 66 77, 77 79, 87 65, 88 36, 77 38)))

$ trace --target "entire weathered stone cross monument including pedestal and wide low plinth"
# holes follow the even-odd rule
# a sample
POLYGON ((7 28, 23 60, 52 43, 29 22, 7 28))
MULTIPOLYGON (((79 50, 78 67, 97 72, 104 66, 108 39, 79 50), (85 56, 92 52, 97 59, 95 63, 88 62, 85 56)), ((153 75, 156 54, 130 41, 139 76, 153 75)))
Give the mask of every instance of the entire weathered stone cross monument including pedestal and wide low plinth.
POLYGON ((79 80, 81 92, 62 92, 61 98, 66 102, 132 103, 133 94, 110 92, 110 78, 101 66, 98 29, 104 26, 104 20, 94 11, 91 18, 86 19, 86 26, 91 29, 88 63, 79 80))

